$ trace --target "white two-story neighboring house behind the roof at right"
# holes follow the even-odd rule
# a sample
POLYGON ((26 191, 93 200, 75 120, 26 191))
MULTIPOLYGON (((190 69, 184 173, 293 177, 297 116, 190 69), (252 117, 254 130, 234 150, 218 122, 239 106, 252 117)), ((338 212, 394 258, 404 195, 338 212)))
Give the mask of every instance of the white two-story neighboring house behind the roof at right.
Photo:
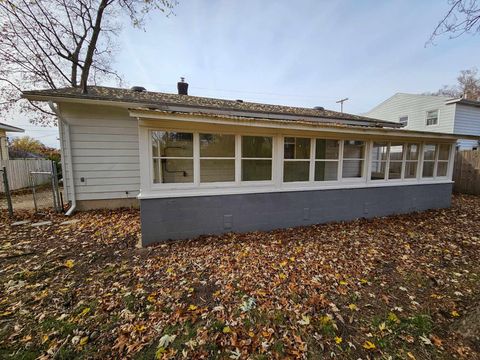
MULTIPOLYGON (((401 123, 407 130, 480 135, 480 101, 463 98, 398 93, 364 115, 401 123)), ((457 146, 478 148, 479 142, 460 139, 457 146)))

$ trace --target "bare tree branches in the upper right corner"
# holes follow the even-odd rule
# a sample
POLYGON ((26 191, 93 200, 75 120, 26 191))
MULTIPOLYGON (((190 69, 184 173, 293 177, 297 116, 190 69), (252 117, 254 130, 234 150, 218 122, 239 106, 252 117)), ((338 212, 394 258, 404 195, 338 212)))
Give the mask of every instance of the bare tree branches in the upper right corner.
POLYGON ((463 34, 480 32, 480 3, 478 0, 448 0, 450 6, 445 16, 430 35, 427 43, 433 43, 438 36, 449 34, 450 39, 463 34))

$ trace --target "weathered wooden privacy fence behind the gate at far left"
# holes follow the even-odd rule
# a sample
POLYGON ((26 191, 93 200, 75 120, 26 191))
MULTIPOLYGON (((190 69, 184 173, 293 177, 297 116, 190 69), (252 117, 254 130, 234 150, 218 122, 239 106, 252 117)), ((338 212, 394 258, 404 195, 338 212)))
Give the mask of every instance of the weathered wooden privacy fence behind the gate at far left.
MULTIPOLYGON (((0 160, 0 169, 5 166, 7 169, 8 183, 10 190, 18 190, 29 187, 31 171, 52 171, 52 162, 47 159, 15 159, 0 160)), ((50 182, 48 176, 38 177, 36 185, 50 182)), ((0 181, 0 193, 3 193, 3 182, 0 181)))

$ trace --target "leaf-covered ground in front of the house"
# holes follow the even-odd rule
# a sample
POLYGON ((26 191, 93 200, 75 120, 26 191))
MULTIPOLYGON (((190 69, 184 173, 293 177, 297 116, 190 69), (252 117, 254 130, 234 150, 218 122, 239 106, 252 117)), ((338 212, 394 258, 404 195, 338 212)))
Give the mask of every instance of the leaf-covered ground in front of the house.
POLYGON ((147 249, 135 210, 45 219, 1 215, 0 358, 480 358, 480 197, 147 249))

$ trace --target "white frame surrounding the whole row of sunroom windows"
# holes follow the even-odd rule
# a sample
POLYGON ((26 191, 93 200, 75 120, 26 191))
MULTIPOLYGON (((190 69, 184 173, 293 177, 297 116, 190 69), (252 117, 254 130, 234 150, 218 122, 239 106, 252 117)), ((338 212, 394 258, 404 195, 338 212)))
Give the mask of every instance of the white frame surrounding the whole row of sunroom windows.
MULTIPOLYGON (((396 140, 395 138, 383 138, 383 137, 370 137, 370 136, 351 136, 351 134, 315 134, 316 136, 309 136, 304 132, 297 131, 285 131, 271 133, 266 130, 257 132, 250 129, 243 129, 241 132, 232 129, 212 129, 202 128, 201 130, 192 131, 188 127, 140 127, 140 153, 148 154, 148 158, 141 155, 140 161, 140 184, 141 193, 140 198, 155 198, 155 197, 178 197, 178 196, 195 196, 195 195, 220 195, 220 194, 235 194, 235 193, 254 193, 254 192, 277 192, 277 191, 303 191, 303 190, 323 190, 323 189, 342 189, 351 187, 376 187, 376 186, 388 186, 388 185, 409 185, 414 183, 435 183, 435 182, 447 182, 451 181, 453 173, 452 158, 454 157, 454 147, 451 141, 442 141, 438 139, 436 141, 422 141, 421 139, 408 139, 408 140, 396 140), (153 149, 152 149, 152 132, 165 131, 165 132, 183 132, 193 134, 193 159, 194 159, 194 182, 193 183, 153 183, 153 149), (200 182, 200 159, 208 159, 200 157, 200 134, 221 134, 221 135, 234 135, 235 136, 235 182, 200 182), (336 136, 334 136, 336 135, 336 136), (260 136, 272 138, 272 157, 262 158, 268 159, 272 162, 272 179, 264 181, 241 181, 241 143, 242 136, 260 136), (310 139, 310 158, 309 159, 297 159, 298 161, 309 161, 309 181, 301 182, 283 182, 283 157, 284 157, 284 138, 298 137, 310 139), (355 139, 356 141, 364 142, 364 153, 361 158, 344 158, 344 145, 345 142, 355 139), (316 159, 316 145, 317 140, 333 140, 338 141, 338 158, 336 159, 316 159), (374 180, 370 179, 372 156, 371 151, 373 142, 387 142, 389 144, 389 157, 388 165, 386 168, 386 179, 374 180), (402 144, 403 145, 403 158, 402 158, 402 175, 401 179, 390 178, 390 160, 391 160, 391 145, 402 144), (447 164, 446 176, 435 176, 433 178, 422 178, 423 174, 423 151, 426 143, 432 143, 436 146, 440 144, 450 145, 450 156, 447 164), (419 155, 417 160, 406 160, 407 147, 410 144, 418 146, 419 155), (343 166, 344 160, 362 160, 363 161, 363 177, 359 178, 344 178, 343 166), (337 162, 337 180, 315 180, 315 165, 317 162, 337 162), (417 164, 417 173, 415 178, 405 178, 406 164, 408 162, 415 162, 417 164), (218 189, 218 190, 215 190, 218 189), (168 190, 168 191, 167 191, 168 190), (144 197, 145 194, 145 197, 144 197)), ((155 157, 157 158, 157 156, 155 157)), ((222 159, 230 159, 225 157, 222 159)), ((248 158, 253 159, 253 158, 248 158)), ((257 158, 255 158, 257 159, 257 158)), ((294 160, 294 159, 290 159, 294 160)), ((296 161, 297 161, 296 160, 296 161)), ((447 160, 443 160, 447 163, 447 160)), ((435 175, 436 175, 435 168, 435 175)))

